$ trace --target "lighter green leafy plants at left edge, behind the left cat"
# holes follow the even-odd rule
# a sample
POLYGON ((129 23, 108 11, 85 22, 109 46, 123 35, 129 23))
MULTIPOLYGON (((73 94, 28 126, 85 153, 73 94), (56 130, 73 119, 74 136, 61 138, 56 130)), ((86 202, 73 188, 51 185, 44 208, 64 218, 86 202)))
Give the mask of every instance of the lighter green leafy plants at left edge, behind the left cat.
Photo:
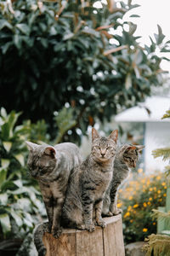
MULTIPOLYGON (((55 125, 59 125, 58 143, 74 124, 71 111, 63 108, 54 117, 55 125)), ((37 182, 27 172, 25 142, 49 143, 51 137, 44 120, 36 124, 25 120, 19 125, 20 114, 8 114, 4 108, 0 111, 0 240, 24 238, 37 220, 46 216, 37 182)))

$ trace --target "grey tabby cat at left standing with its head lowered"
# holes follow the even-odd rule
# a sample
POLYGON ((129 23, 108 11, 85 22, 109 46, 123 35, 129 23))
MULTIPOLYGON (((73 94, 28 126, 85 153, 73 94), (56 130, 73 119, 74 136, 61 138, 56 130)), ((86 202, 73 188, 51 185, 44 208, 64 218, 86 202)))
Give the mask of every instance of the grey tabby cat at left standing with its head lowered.
POLYGON ((59 237, 62 228, 60 215, 71 169, 82 162, 79 148, 74 143, 49 146, 26 142, 29 149, 27 165, 31 176, 39 183, 48 214, 48 232, 59 237))

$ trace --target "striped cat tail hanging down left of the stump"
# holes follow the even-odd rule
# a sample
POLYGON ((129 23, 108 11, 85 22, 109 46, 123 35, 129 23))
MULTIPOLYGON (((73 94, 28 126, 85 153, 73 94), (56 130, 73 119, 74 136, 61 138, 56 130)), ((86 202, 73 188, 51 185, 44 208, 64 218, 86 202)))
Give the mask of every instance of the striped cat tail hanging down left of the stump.
POLYGON ((34 230, 34 244, 37 248, 38 256, 45 256, 47 253, 46 247, 42 241, 42 237, 45 232, 48 232, 48 222, 37 225, 34 230))

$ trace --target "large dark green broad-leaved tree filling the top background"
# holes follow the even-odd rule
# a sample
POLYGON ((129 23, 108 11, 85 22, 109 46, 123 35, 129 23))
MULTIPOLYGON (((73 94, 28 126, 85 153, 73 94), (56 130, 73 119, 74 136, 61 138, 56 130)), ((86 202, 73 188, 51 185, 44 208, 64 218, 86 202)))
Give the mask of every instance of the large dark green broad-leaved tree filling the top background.
POLYGON ((170 41, 161 27, 141 47, 124 17, 138 4, 108 0, 97 9, 95 2, 0 0, 1 105, 53 127, 54 111, 66 103, 75 127, 63 140, 143 101, 163 81, 166 58, 157 52, 169 52, 170 41))

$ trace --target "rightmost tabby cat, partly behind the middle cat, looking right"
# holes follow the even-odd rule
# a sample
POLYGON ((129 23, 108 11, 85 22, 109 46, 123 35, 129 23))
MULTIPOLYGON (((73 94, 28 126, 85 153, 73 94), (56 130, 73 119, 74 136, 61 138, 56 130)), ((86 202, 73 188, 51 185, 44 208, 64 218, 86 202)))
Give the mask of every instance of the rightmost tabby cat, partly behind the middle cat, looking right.
POLYGON ((143 145, 125 144, 117 149, 116 158, 113 166, 113 177, 109 188, 105 192, 102 216, 112 216, 122 213, 122 209, 116 207, 116 194, 121 183, 127 178, 129 168, 136 166, 139 159, 139 151, 143 145))

